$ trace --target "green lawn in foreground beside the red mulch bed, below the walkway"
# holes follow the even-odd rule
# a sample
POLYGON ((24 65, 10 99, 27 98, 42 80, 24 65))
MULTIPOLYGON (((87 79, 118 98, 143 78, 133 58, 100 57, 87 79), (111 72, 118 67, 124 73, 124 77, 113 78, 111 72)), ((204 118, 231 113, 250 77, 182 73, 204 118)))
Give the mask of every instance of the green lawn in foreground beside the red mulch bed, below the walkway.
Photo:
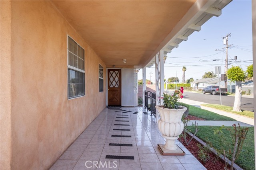
MULTIPOLYGON (((187 128, 192 133, 194 132, 194 126, 190 126, 187 128)), ((223 129, 224 142, 222 142, 218 135, 214 135, 213 129, 216 128, 216 126, 198 126, 199 131, 198 133, 196 133, 196 136, 205 142, 210 141, 214 148, 221 150, 225 149, 226 152, 228 152, 229 147, 232 146, 232 139, 230 137, 230 133, 228 130, 223 129)), ((243 149, 235 163, 244 170, 255 170, 254 127, 249 127, 246 140, 244 141, 243 149)))

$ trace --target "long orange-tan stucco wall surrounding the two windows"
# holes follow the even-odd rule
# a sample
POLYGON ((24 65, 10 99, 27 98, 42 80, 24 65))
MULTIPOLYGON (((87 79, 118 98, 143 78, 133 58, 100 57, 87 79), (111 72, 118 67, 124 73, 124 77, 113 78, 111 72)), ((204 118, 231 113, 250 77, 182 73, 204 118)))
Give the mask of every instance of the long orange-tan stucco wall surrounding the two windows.
POLYGON ((47 169, 106 107, 106 65, 48 1, 12 1, 12 169, 47 169), (67 34, 85 49, 86 96, 67 98, 67 34))

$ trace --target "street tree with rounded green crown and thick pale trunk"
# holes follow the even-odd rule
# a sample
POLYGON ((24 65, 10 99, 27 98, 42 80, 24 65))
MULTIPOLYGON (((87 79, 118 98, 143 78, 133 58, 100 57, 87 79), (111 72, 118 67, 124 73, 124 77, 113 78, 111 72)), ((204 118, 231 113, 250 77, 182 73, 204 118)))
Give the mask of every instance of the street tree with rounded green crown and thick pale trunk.
POLYGON ((236 82, 236 94, 233 111, 241 111, 241 101, 242 101, 242 81, 246 78, 246 73, 240 66, 232 66, 227 71, 228 79, 231 82, 236 82))

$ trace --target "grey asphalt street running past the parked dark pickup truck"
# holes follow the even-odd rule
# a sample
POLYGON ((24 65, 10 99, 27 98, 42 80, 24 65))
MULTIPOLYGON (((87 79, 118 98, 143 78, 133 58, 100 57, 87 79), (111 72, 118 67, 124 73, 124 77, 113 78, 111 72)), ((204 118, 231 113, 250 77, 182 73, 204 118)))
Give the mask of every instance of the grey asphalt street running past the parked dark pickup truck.
MULTIPOLYGON (((220 95, 184 92, 184 98, 208 104, 220 104, 220 95)), ((222 105, 234 106, 234 96, 221 96, 222 105)), ((242 98, 241 109, 254 111, 253 98, 242 98)))

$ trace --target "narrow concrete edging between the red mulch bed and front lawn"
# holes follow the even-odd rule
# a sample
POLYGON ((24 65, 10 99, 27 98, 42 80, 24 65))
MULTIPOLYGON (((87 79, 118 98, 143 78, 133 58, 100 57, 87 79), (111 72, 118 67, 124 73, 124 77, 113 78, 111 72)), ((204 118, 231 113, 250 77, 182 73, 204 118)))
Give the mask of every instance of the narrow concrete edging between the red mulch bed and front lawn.
MULTIPOLYGON (((187 133, 190 137, 193 136, 193 134, 190 133, 189 131, 187 131, 186 133, 187 133)), ((205 143, 204 141, 202 141, 201 139, 199 139, 198 137, 194 136, 194 139, 195 139, 198 143, 200 143, 200 145, 206 146, 206 143, 205 143)), ((220 161, 221 161, 221 162, 225 163, 224 155, 222 155, 222 154, 219 154, 219 155, 218 155, 218 152, 217 152, 215 149, 213 149, 212 147, 210 147, 210 150, 211 150, 211 152, 212 152, 214 155, 216 155, 216 156, 218 156, 218 157, 220 158, 220 161)), ((231 166, 231 161, 230 161, 228 158, 226 158, 226 160, 228 161, 228 166, 230 167, 230 166, 231 166)), ((233 164, 233 170, 243 170, 243 169, 240 168, 240 166, 238 166, 237 164, 234 163, 234 164, 233 164)))

